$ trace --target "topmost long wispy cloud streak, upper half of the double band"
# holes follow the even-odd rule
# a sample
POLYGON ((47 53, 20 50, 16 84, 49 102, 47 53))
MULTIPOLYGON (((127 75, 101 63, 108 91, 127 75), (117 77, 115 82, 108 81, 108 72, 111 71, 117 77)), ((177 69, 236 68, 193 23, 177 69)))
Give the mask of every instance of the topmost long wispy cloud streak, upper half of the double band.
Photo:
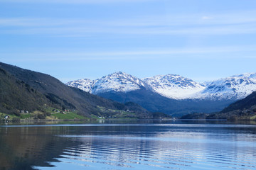
MULTIPOLYGON (((1 0, 0 0, 1 1, 1 0)), ((236 11, 230 13, 197 13, 188 15, 137 16, 115 20, 85 20, 81 18, 0 18, 0 26, 218 26, 230 24, 256 23, 256 11, 236 11)))

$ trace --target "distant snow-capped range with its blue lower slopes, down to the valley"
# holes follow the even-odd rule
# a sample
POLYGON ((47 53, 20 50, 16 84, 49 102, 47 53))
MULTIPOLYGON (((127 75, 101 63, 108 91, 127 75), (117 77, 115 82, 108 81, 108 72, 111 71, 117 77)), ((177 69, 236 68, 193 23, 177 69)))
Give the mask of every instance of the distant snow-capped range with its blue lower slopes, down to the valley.
POLYGON ((245 98, 256 91, 256 74, 239 74, 200 84, 176 74, 139 79, 124 72, 114 72, 96 80, 70 81, 67 85, 121 103, 139 103, 149 111, 183 115, 221 111, 230 103, 245 98))

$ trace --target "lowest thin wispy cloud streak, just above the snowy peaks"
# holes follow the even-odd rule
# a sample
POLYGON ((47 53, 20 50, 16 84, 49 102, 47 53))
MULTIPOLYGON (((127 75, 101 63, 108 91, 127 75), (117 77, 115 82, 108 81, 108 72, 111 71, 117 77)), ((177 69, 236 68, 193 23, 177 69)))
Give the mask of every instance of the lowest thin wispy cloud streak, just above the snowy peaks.
MULTIPOLYGON (((133 51, 106 51, 106 52, 46 52, 46 53, 0 53, 5 57, 4 62, 50 62, 50 61, 86 61, 86 60, 147 60, 164 59, 170 57, 189 58, 235 58, 235 56, 223 55, 235 52, 256 52, 256 45, 225 46, 205 48, 180 48, 157 50, 133 50, 133 51), (208 56, 207 54, 210 54, 208 56), (218 55, 221 54, 221 55, 218 55), (197 55, 195 57, 195 55, 197 55)), ((245 58, 246 56, 242 56, 245 58)), ((256 56, 248 56, 256 58, 256 56)))

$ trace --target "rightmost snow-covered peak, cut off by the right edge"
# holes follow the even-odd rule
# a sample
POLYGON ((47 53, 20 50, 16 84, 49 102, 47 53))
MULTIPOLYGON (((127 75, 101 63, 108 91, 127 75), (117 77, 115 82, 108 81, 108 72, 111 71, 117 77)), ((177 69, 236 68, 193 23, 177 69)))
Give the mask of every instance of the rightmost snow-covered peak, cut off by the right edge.
POLYGON ((239 74, 212 81, 206 89, 194 94, 191 98, 201 99, 241 99, 256 91, 256 74, 239 74))

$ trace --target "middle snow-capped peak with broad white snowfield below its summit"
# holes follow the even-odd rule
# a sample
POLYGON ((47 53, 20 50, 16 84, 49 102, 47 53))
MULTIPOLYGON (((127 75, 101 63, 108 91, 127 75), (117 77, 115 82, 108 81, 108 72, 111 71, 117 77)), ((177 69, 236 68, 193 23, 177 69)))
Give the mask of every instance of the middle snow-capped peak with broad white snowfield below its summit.
POLYGON ((205 86, 176 74, 159 75, 143 79, 154 91, 167 98, 184 99, 203 91, 205 86))

